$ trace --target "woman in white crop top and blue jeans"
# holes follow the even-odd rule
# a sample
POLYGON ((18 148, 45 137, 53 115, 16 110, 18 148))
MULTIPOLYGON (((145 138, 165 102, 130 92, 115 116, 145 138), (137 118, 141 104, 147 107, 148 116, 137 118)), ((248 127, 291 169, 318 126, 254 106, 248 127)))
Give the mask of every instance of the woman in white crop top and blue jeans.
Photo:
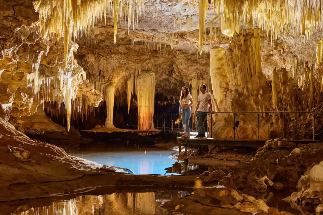
POLYGON ((190 117, 192 115, 191 106, 194 104, 190 91, 187 87, 182 88, 182 95, 180 98, 180 116, 182 116, 182 123, 184 128, 183 138, 190 138, 190 117))

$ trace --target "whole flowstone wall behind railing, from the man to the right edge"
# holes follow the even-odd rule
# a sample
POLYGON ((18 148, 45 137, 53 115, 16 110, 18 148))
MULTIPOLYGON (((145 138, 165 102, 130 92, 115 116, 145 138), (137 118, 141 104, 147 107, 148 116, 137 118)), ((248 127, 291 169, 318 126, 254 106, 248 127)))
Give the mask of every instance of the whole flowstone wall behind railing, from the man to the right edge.
MULTIPOLYGON (((322 102, 321 67, 314 69, 314 64, 310 67, 308 62, 302 67, 298 64, 298 70, 294 68, 298 76, 285 68, 274 68, 270 82, 262 70, 261 39, 257 29, 235 34, 228 47, 215 46, 210 54, 212 94, 220 112, 260 111, 259 115, 215 114, 214 137, 233 137, 233 121, 238 120, 238 134, 235 135, 240 138, 311 138, 313 123, 310 111, 322 102)), ((315 119, 316 129, 320 123, 315 119)))

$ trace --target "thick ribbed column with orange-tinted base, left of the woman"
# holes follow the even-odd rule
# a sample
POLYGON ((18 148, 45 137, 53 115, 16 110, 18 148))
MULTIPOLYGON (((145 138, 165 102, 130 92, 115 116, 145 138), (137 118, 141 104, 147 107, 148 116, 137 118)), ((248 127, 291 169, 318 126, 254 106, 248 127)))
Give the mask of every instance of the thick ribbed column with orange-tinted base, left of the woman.
POLYGON ((155 83, 155 73, 151 71, 141 71, 135 78, 139 130, 154 128, 155 83))

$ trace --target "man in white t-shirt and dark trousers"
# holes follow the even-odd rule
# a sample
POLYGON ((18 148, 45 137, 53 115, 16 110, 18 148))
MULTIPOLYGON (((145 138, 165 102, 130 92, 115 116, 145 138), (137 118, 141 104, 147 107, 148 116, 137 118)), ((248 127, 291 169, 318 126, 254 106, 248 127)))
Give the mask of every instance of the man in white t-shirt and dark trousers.
POLYGON ((207 112, 209 112, 209 106, 212 111, 212 103, 211 103, 211 95, 205 92, 206 85, 201 84, 200 91, 201 94, 197 99, 197 105, 195 108, 195 116, 197 116, 197 128, 198 134, 194 138, 203 138, 205 137, 205 129, 204 129, 204 120, 207 116, 207 112))

